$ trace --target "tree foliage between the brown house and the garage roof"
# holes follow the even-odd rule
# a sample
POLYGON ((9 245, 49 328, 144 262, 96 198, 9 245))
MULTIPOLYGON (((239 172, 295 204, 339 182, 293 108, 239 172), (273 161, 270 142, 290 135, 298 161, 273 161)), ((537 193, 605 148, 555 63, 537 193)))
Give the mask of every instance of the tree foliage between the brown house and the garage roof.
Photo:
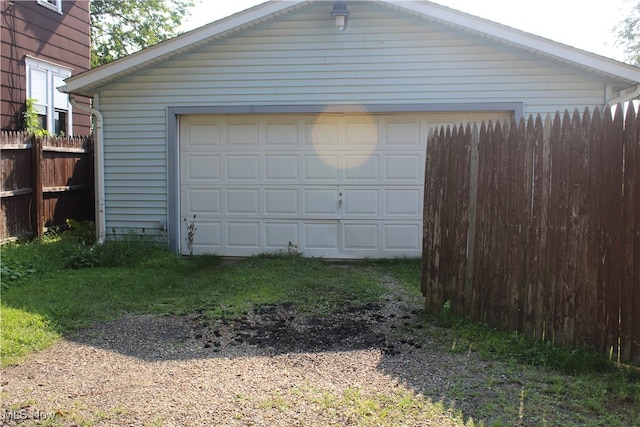
POLYGON ((196 0, 91 0, 91 66, 97 67, 179 33, 196 0))

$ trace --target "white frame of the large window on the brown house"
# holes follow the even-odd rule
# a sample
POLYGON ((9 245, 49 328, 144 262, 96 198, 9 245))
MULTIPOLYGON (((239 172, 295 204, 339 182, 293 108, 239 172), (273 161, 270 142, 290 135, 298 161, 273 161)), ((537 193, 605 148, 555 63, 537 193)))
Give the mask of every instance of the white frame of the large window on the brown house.
POLYGON ((69 101, 69 95, 62 94, 56 89, 55 81, 59 79, 66 79, 71 76, 72 69, 63 65, 55 64, 53 62, 37 59, 32 56, 25 56, 25 71, 26 71, 26 88, 27 99, 36 99, 35 108, 42 115, 46 116, 46 128, 49 132, 54 131, 54 112, 57 109, 65 110, 67 112, 67 135, 73 134, 73 115, 71 112, 71 102, 69 101), (40 76, 46 76, 46 84, 44 88, 46 99, 37 99, 34 92, 34 85, 32 82, 33 73, 40 73, 40 76))

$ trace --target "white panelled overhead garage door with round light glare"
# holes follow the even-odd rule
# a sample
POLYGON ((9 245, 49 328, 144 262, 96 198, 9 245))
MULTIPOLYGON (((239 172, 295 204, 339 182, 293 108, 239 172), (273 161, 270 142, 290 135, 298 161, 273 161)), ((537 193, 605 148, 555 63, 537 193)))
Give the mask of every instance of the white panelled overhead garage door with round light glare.
POLYGON ((181 117, 181 251, 195 215, 194 254, 419 256, 429 127, 474 118, 181 117))

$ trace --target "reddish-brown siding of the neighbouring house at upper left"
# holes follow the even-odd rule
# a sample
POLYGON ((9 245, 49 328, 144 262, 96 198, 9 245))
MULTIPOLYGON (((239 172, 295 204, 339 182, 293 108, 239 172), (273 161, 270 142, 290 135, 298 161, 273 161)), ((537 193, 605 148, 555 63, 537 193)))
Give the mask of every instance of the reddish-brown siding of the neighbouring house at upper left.
MULTIPOLYGON (((91 67, 89 2, 65 0, 62 14, 36 0, 2 1, 0 8, 0 122, 3 130, 19 130, 26 101, 26 55, 71 68, 73 74, 91 67)), ((89 105, 86 98, 78 101, 89 105)), ((73 132, 86 135, 90 130, 90 115, 73 111, 73 132)))

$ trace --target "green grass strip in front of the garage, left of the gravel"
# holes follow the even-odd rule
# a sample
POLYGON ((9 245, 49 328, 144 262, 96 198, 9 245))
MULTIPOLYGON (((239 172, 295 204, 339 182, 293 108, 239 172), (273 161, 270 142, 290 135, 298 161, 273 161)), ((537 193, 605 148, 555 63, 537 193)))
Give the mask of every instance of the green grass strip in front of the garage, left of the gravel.
POLYGON ((291 302, 302 313, 322 316, 375 301, 383 292, 367 268, 300 256, 232 263, 214 256, 181 258, 137 239, 91 252, 65 240, 10 245, 3 247, 2 265, 3 365, 74 329, 126 313, 204 311, 221 318, 291 302))

